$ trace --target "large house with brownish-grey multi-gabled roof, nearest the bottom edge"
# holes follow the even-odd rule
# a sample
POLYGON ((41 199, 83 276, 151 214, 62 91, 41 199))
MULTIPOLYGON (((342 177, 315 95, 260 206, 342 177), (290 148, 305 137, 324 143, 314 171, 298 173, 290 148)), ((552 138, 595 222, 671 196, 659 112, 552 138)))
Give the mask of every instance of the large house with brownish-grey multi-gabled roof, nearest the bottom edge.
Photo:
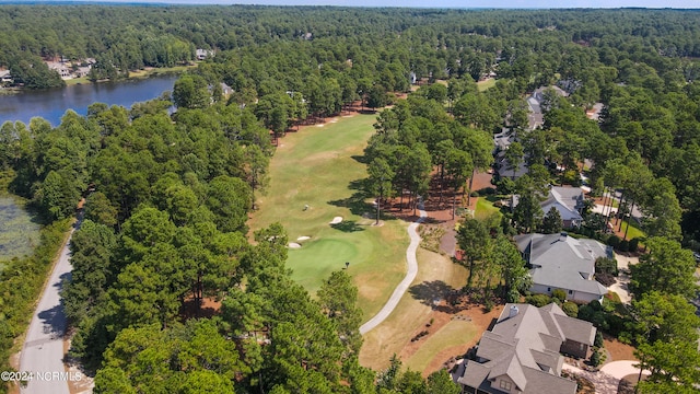
POLYGON ((555 303, 509 303, 457 383, 463 393, 574 394, 576 382, 561 378, 561 354, 586 358, 595 333, 593 324, 567 316, 555 303))

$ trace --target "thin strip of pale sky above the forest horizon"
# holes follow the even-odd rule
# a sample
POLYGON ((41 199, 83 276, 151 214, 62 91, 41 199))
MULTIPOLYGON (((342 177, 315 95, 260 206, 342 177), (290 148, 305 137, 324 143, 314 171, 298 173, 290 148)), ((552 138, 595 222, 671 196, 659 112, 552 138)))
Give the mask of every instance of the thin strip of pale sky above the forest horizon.
MULTIPOLYGON (((39 0, 40 1, 40 0, 39 0)), ((44 0, 54 2, 60 0, 44 0)), ((79 0, 81 1, 81 0, 79 0)), ((89 1, 89 0, 85 0, 89 1)), ((100 1, 100 0, 98 0, 100 1)), ((700 0, 102 0, 109 2, 148 2, 177 4, 268 4, 268 5, 343 5, 343 7, 418 7, 418 8, 675 8, 700 9, 700 0)), ((0 1, 1 2, 1 1, 0 1)))

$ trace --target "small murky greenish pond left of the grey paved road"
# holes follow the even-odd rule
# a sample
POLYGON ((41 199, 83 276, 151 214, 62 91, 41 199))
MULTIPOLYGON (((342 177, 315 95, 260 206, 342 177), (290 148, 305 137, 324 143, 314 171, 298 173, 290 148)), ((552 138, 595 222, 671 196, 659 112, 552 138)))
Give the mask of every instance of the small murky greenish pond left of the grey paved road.
POLYGON ((31 255, 39 244, 39 224, 23 202, 12 196, 0 196, 0 268, 12 257, 31 255))

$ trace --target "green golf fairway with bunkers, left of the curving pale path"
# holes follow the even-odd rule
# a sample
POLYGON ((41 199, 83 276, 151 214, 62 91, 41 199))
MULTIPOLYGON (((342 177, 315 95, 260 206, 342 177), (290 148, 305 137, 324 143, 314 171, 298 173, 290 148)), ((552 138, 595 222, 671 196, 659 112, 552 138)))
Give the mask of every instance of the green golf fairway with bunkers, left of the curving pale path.
POLYGON ((290 242, 292 278, 312 294, 330 273, 345 268, 359 290, 364 320, 374 315, 406 273, 407 223, 387 219, 374 227, 372 198, 364 195, 366 166, 361 155, 374 132, 374 115, 355 115, 290 132, 270 163, 270 185, 258 196, 259 210, 249 225, 257 230, 279 221, 290 242), (304 206, 308 209, 304 210, 304 206), (330 225, 342 217, 340 225, 330 225), (310 236, 306 241, 296 241, 310 236))

